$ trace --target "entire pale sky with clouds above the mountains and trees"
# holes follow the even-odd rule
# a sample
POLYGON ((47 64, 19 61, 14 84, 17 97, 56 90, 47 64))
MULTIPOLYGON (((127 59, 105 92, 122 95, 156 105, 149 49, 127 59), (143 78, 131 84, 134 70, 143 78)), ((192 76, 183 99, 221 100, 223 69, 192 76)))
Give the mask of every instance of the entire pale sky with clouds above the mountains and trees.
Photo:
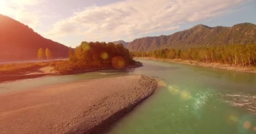
POLYGON ((0 14, 75 47, 170 35, 197 24, 256 24, 256 0, 0 0, 0 14))

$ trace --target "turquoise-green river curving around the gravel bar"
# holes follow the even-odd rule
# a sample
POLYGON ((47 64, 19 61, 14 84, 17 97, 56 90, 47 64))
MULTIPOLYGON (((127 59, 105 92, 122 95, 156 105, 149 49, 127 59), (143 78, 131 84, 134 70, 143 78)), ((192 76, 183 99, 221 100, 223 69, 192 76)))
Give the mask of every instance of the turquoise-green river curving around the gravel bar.
POLYGON ((0 83, 0 93, 100 77, 143 74, 168 86, 117 121, 108 134, 255 134, 256 74, 140 60, 144 67, 0 83))

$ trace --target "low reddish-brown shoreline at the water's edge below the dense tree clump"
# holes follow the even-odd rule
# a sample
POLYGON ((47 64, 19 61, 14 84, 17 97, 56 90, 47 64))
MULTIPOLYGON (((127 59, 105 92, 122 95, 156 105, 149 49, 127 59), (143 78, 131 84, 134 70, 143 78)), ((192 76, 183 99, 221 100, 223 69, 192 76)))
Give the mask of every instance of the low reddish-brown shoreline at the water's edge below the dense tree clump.
MULTIPOLYGON (((129 65, 126 67, 123 67, 122 69, 128 69, 128 68, 136 68, 136 67, 142 67, 143 64, 137 62, 135 65, 129 65)), ((43 67, 46 68, 46 67, 43 67)), ((53 67, 52 67, 53 68, 53 67)), ((37 77, 44 77, 44 76, 59 76, 59 75, 72 75, 72 74, 79 74, 79 73, 85 73, 85 72, 93 72, 93 71, 99 71, 99 70, 112 70, 115 69, 114 67, 99 67, 99 68, 88 68, 85 70, 75 70, 68 73, 59 73, 56 71, 52 71, 51 69, 47 69, 46 71, 41 72, 29 72, 27 74, 23 75, 0 75, 0 82, 6 82, 6 81, 12 81, 12 80, 22 80, 22 79, 31 79, 31 78, 37 78, 37 77)))

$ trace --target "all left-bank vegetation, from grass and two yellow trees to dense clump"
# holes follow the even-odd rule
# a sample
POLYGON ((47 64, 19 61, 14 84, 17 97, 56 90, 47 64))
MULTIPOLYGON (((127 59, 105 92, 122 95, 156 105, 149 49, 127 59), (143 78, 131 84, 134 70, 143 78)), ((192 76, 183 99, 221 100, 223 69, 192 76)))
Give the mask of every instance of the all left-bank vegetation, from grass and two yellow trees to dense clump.
MULTIPOLYGON (((39 60, 47 58, 48 61, 19 64, 1 64, 0 74, 4 75, 24 75, 31 72, 38 72, 42 67, 53 67, 54 71, 61 74, 72 72, 83 72, 93 69, 104 69, 113 67, 121 69, 125 66, 141 66, 139 62, 133 60, 132 55, 122 44, 105 42, 83 41, 75 49, 69 47, 67 51, 68 60, 51 60, 50 49, 40 48, 37 51, 39 60)), ((39 73, 39 72, 38 72, 39 73)), ((42 72, 44 73, 44 72, 42 72)))

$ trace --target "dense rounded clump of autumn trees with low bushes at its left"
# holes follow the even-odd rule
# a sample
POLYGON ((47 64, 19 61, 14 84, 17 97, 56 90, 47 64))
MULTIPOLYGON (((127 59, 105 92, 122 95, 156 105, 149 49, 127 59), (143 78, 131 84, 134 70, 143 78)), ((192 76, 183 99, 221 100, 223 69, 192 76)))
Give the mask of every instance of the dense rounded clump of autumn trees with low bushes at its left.
POLYGON ((121 69, 133 64, 133 58, 127 48, 122 44, 112 42, 86 42, 83 41, 75 49, 69 47, 69 60, 56 65, 60 72, 85 70, 96 67, 115 67, 121 69))

